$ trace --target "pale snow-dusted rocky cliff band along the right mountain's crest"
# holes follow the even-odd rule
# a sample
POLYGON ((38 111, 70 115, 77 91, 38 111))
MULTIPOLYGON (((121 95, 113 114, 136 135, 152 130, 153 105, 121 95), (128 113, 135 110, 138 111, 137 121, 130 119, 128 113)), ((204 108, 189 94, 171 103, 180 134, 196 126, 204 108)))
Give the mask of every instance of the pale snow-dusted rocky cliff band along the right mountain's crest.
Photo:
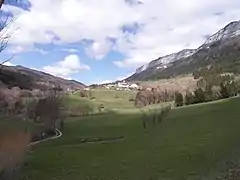
MULTIPOLYGON (((206 42, 201 45, 197 49, 184 49, 180 52, 173 53, 167 56, 160 57, 156 60, 151 61, 148 64, 145 64, 139 67, 135 74, 126 80, 138 80, 138 77, 149 76, 149 74, 154 74, 159 72, 160 70, 167 69, 176 63, 176 61, 184 61, 185 59, 189 59, 191 57, 198 56, 199 52, 210 51, 212 45, 216 43, 220 43, 223 41, 227 41, 229 39, 234 39, 235 37, 240 36, 240 21, 234 21, 229 23, 223 29, 210 36, 206 42)), ((222 43, 224 44, 224 43, 222 43)))

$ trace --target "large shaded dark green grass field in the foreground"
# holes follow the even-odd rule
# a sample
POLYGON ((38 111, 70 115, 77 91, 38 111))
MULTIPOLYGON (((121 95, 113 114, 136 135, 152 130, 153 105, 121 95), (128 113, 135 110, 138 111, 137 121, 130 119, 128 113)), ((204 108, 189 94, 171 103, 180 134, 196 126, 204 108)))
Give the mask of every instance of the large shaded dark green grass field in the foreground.
POLYGON ((240 99, 174 109, 161 125, 142 128, 139 113, 75 118, 60 139, 29 153, 34 180, 214 179, 240 156, 240 99), (124 137, 82 144, 85 138, 124 137))

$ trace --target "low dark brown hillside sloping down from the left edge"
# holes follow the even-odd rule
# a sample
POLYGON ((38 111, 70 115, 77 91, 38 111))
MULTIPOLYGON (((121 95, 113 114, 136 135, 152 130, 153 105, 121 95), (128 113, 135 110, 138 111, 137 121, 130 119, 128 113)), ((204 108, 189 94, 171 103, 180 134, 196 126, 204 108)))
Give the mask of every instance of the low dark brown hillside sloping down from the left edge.
POLYGON ((21 89, 29 90, 46 89, 49 87, 61 87, 63 90, 67 90, 85 87, 80 82, 55 77, 23 66, 3 66, 0 69, 0 86, 18 86, 21 89))

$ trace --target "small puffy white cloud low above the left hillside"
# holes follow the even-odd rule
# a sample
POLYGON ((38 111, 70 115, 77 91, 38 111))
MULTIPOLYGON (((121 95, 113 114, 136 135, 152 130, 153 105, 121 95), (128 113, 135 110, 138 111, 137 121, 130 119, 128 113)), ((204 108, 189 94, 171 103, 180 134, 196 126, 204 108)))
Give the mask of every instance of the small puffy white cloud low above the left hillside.
POLYGON ((77 55, 71 54, 66 56, 62 61, 43 67, 42 70, 55 76, 71 79, 72 74, 83 70, 90 70, 90 67, 82 64, 77 55))

